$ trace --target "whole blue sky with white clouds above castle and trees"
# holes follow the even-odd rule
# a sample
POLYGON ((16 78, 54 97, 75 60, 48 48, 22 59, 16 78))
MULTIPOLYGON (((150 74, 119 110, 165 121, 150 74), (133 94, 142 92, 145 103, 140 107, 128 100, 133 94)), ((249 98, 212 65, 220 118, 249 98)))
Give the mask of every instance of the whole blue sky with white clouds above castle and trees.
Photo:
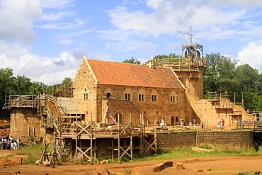
POLYGON ((181 55, 188 43, 178 30, 190 26, 204 54, 220 52, 261 72, 259 0, 0 0, 0 68, 57 84, 74 79, 83 56, 143 63, 181 55))

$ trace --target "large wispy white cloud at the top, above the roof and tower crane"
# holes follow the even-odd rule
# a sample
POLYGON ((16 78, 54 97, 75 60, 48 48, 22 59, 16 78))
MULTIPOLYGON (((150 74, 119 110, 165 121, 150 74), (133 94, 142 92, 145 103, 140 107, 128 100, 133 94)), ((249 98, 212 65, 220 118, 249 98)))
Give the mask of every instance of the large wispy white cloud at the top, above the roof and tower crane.
POLYGON ((221 24, 237 24, 236 18, 246 11, 226 13, 216 6, 207 6, 205 1, 147 1, 147 6, 154 9, 152 13, 144 11, 128 11, 123 6, 108 11, 111 23, 117 30, 133 30, 137 35, 159 36, 173 34, 177 30, 204 30, 221 24))

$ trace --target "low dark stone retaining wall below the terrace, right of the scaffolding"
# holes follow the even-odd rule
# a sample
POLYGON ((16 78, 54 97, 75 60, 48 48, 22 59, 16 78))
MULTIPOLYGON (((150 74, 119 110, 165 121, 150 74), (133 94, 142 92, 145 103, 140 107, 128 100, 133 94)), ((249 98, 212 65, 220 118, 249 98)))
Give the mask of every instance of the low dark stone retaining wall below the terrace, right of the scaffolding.
MULTIPOLYGON (((196 132, 157 133, 157 140, 164 149, 195 146, 196 132)), ((220 149, 248 149, 255 146, 251 131, 198 132, 198 145, 220 149)))

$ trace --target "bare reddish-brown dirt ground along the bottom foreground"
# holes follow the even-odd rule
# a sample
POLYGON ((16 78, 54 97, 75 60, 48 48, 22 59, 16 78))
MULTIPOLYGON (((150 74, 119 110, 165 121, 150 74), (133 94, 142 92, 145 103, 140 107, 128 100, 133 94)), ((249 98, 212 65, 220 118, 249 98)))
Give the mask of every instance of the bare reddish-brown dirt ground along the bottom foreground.
POLYGON ((110 163, 110 164, 74 164, 62 163, 62 165, 52 166, 36 166, 36 165, 20 165, 21 157, 11 156, 13 151, 0 150, 0 174, 9 175, 14 171, 21 171, 23 174, 88 174, 92 169, 108 169, 112 174, 239 174, 245 171, 262 171, 262 157, 205 157, 205 158, 183 158, 169 159, 172 161, 173 167, 166 168, 160 172, 153 172, 154 165, 163 161, 152 162, 128 162, 128 163, 110 163), (176 163, 183 163, 184 169, 176 169, 176 163), (208 170, 210 169, 210 170, 208 170))

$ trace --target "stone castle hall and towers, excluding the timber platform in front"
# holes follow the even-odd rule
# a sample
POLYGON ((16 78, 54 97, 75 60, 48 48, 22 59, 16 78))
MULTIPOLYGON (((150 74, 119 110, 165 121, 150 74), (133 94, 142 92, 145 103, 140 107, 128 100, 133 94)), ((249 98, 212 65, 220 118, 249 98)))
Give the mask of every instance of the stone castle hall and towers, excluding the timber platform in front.
MULTIPOLYGON (((127 123, 130 115, 134 120, 142 115, 147 125, 154 125, 156 118, 165 118, 169 126, 177 125, 181 118, 187 125, 193 119, 199 124, 216 125, 217 118, 232 125, 246 118, 244 109, 228 98, 215 95, 203 99, 205 67, 203 62, 156 66, 155 62, 139 65, 84 57, 73 79, 70 98, 58 97, 56 104, 47 106, 66 109, 64 115, 79 115, 81 123, 90 123, 91 118, 96 123, 112 122, 118 116, 120 123, 127 123)), ((11 135, 36 135, 38 140, 43 137, 41 111, 47 107, 40 103, 36 96, 7 96, 4 108, 11 112, 11 135)), ((57 110, 50 113, 60 114, 57 110)))

